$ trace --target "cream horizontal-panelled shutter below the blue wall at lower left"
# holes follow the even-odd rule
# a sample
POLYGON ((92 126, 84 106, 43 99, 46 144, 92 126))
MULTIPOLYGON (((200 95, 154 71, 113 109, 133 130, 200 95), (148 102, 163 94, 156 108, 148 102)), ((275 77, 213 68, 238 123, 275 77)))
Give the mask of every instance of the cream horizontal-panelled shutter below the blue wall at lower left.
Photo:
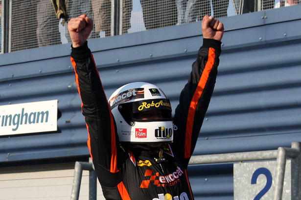
MULTIPOLYGON (((74 163, 1 168, 1 200, 70 200, 73 176, 74 163)), ((80 189, 79 200, 88 200, 87 170, 80 189)), ((105 200, 99 183, 96 189, 97 199, 105 200)))

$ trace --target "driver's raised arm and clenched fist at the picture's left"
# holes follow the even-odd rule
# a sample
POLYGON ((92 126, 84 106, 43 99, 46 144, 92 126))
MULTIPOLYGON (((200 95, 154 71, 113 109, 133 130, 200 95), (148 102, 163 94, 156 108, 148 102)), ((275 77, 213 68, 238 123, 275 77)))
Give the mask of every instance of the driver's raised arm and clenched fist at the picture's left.
POLYGON ((100 183, 110 187, 115 185, 113 181, 118 181, 112 179, 119 172, 117 158, 123 157, 119 155, 115 121, 87 44, 93 20, 81 15, 71 19, 68 28, 72 40, 71 62, 89 133, 88 147, 100 183))

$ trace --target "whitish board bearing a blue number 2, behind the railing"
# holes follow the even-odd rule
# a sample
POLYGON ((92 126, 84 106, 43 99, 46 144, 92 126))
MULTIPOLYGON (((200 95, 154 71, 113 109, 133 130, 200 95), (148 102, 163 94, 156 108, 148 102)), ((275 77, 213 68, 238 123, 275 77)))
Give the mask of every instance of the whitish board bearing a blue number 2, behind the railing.
MULTIPOLYGON (((277 161, 233 164, 234 200, 273 200, 277 161)), ((282 200, 291 200, 291 160, 286 160, 282 200)))

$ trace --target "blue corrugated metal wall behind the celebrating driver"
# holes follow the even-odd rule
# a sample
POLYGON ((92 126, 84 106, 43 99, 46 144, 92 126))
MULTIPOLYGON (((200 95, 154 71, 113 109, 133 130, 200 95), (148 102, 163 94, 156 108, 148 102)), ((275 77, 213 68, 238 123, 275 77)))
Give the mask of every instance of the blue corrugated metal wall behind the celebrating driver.
MULTIPOLYGON (((195 155, 289 147, 301 141, 301 5, 221 19, 219 73, 195 155), (264 18, 266 16, 266 18, 264 18)), ((89 42, 107 92, 160 86, 178 103, 202 44, 200 23, 89 42)), ((70 45, 0 55, 0 105, 59 100, 57 133, 0 137, 0 162, 88 155, 70 45)), ((196 199, 233 199, 232 164, 189 167, 196 199)))

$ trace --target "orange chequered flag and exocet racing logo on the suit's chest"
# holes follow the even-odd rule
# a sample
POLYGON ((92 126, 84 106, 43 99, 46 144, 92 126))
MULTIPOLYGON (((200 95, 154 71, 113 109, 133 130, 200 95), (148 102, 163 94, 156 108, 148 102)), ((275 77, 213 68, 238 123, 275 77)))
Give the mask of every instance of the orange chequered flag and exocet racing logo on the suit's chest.
POLYGON ((151 181, 154 181, 154 185, 158 187, 168 187, 173 186, 180 182, 180 177, 183 175, 182 169, 177 166, 177 170, 167 176, 159 176, 159 172, 153 175, 153 170, 147 169, 145 171, 144 177, 149 177, 149 180, 142 180, 140 188, 148 188, 151 181), (158 177, 158 180, 157 180, 158 177))

